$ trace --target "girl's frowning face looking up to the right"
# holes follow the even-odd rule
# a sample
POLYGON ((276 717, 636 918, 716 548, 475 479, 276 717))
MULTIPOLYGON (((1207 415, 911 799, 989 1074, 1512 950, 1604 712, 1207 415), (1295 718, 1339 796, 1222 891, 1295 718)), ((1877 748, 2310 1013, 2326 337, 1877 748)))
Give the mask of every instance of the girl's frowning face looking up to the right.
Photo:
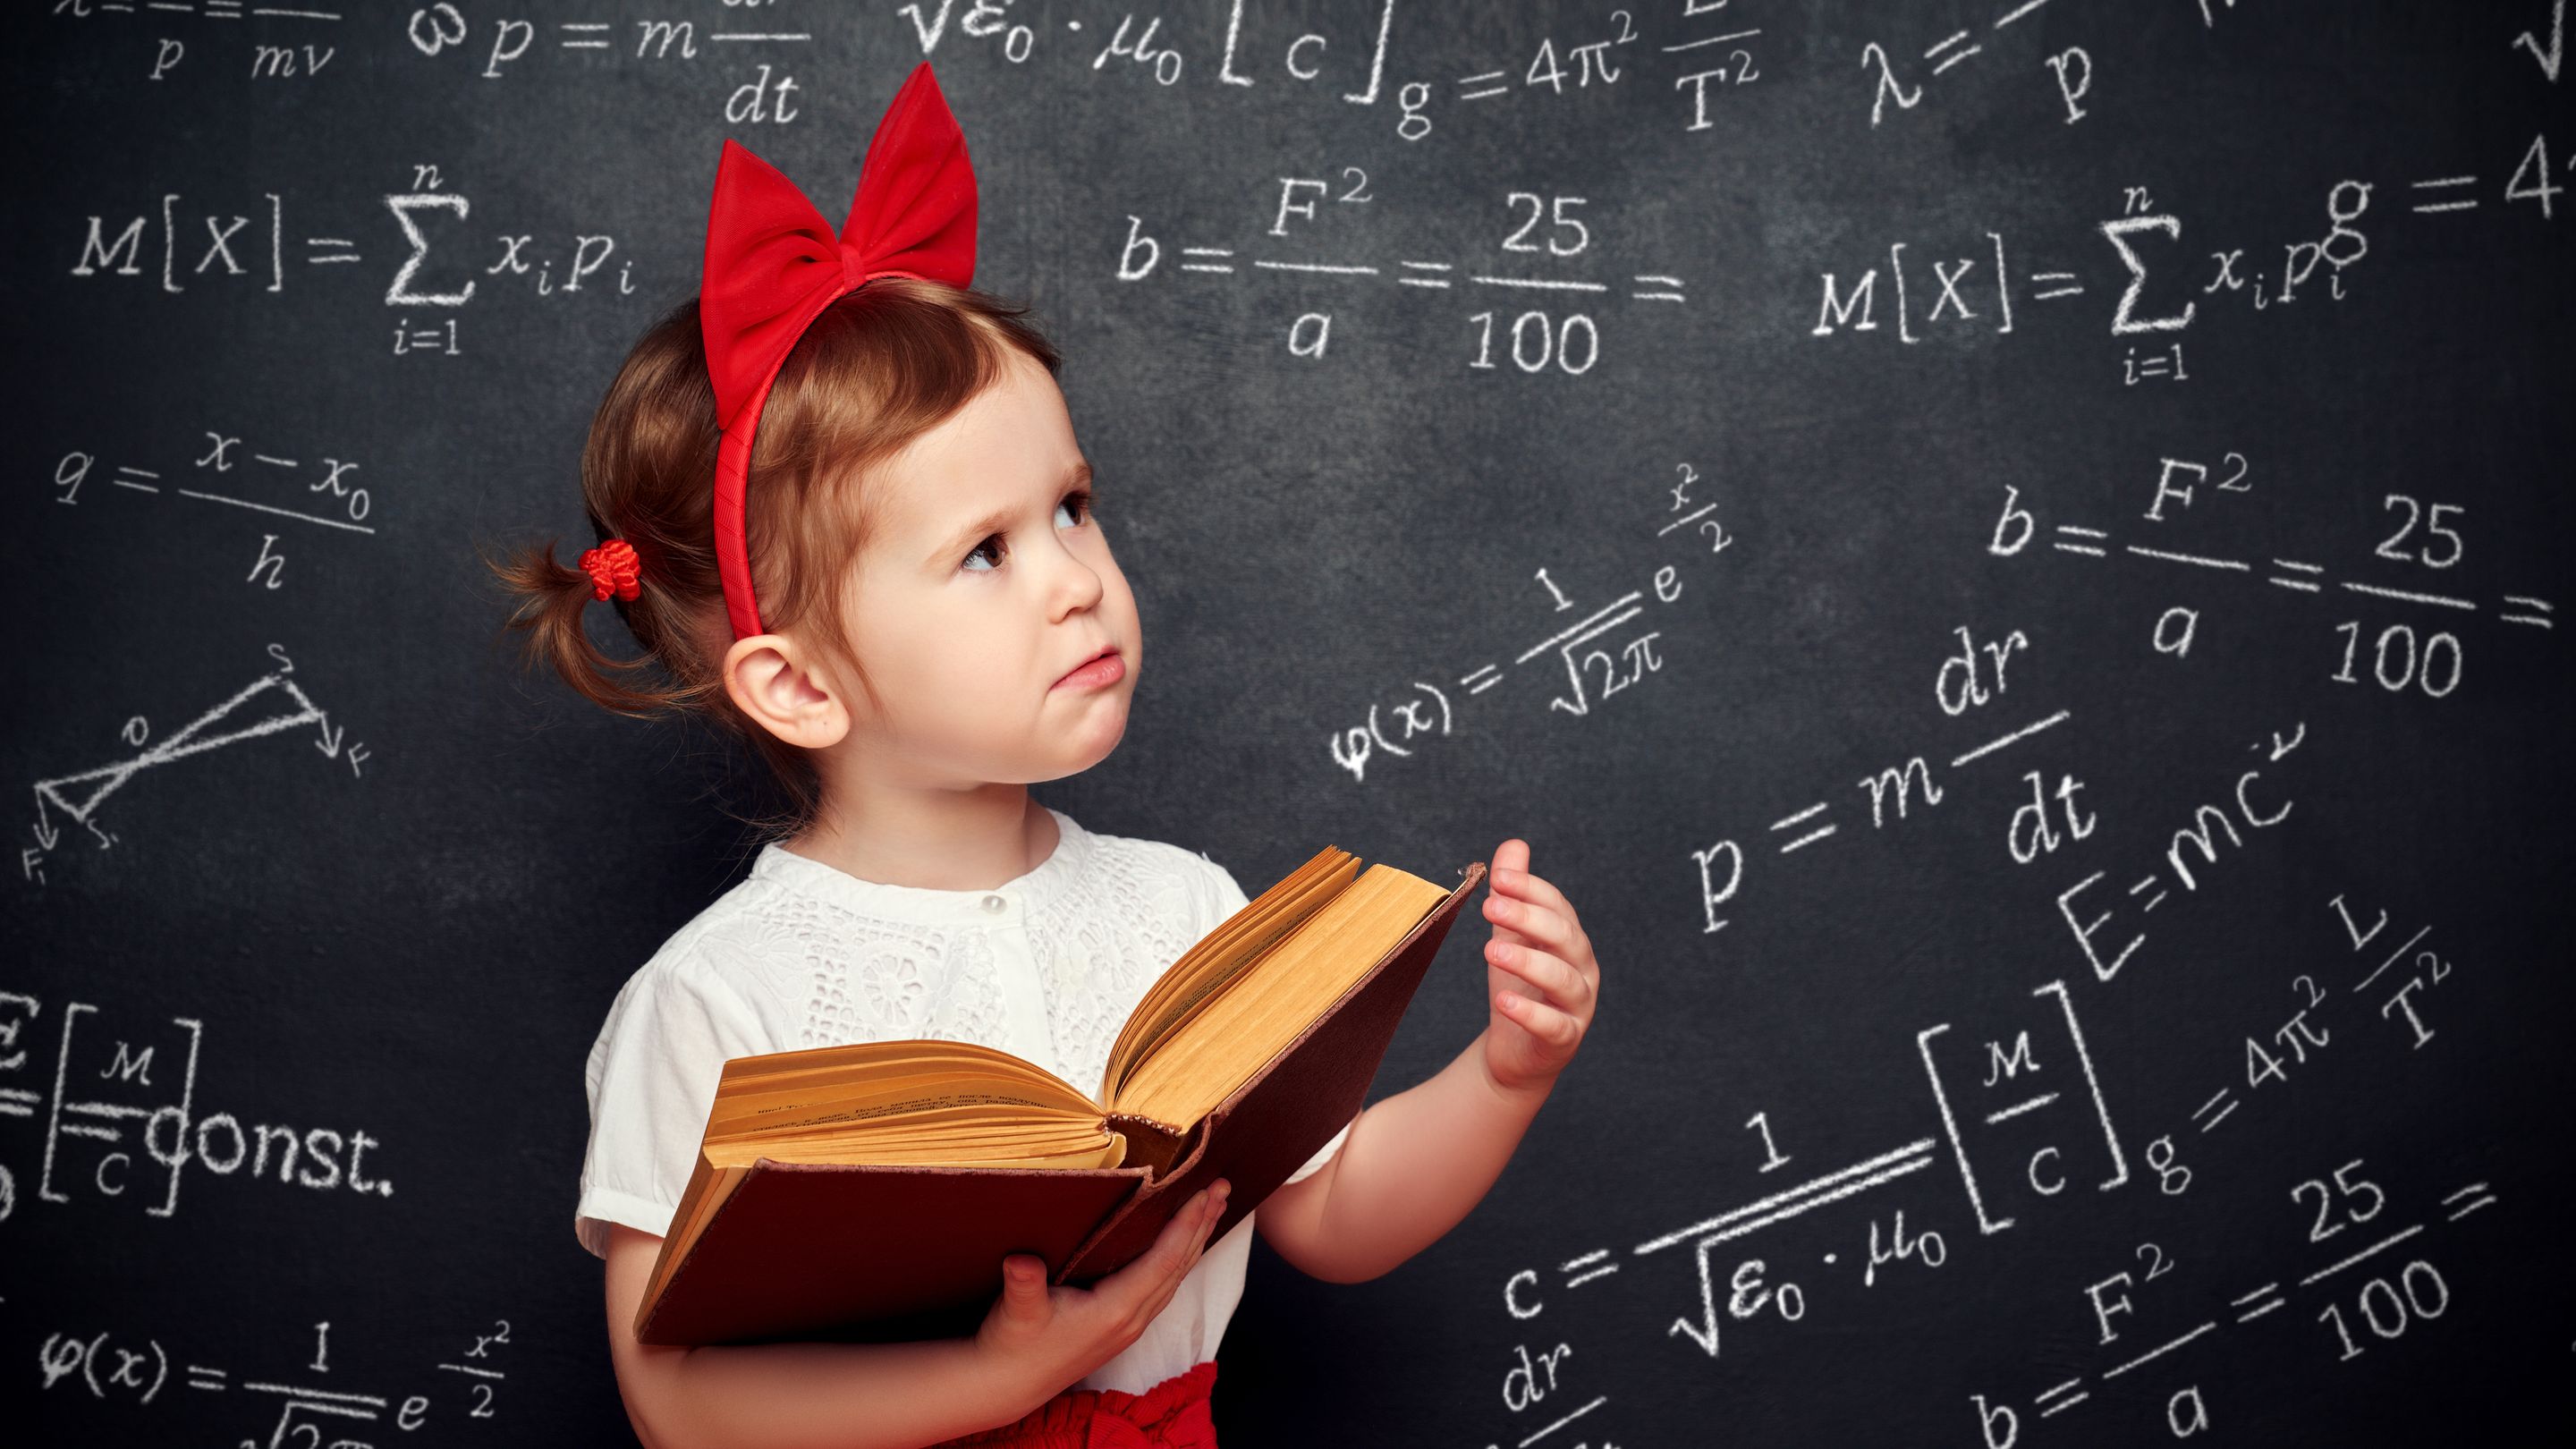
POLYGON ((922 786, 1030 784, 1108 758, 1144 632, 1056 379, 1012 351, 871 485, 878 526, 845 614, 876 686, 876 704, 845 701, 871 766, 922 786), (1103 650, 1113 668, 1064 678, 1103 650))

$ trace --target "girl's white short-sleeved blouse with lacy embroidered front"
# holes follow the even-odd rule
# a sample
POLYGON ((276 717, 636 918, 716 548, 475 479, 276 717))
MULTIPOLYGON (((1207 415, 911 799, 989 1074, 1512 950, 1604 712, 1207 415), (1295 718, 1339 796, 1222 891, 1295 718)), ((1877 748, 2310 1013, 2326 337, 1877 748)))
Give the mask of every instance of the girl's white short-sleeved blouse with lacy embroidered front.
MULTIPOLYGON (((1247 897, 1200 853, 1048 815, 1056 851, 994 890, 878 884, 762 846, 742 884, 626 980, 590 1047, 572 1209, 582 1248, 605 1258, 611 1222, 670 1230, 732 1057, 940 1036, 1090 1091, 1146 987, 1247 897)), ((1288 1181, 1321 1171, 1347 1137, 1345 1124, 1288 1181)), ((1144 1336, 1074 1387, 1144 1392, 1213 1359, 1244 1294, 1255 1217, 1208 1243, 1144 1336)))

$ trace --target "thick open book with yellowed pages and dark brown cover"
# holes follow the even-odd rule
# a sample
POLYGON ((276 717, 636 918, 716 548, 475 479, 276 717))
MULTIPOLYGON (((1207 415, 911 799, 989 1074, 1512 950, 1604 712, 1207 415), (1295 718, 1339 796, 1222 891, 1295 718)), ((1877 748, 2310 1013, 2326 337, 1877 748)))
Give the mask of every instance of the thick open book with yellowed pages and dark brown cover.
POLYGON ((1090 1284, 1226 1178, 1213 1243, 1358 1116, 1458 874, 1327 846, 1157 977, 1097 1096, 971 1042, 724 1062, 636 1341, 974 1333, 1007 1253, 1090 1284))

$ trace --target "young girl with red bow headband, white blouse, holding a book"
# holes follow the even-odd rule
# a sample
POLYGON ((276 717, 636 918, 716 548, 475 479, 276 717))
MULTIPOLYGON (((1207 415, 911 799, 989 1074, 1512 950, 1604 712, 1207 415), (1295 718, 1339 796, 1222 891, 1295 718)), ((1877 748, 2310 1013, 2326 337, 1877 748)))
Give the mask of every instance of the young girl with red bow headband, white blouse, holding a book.
MULTIPOLYGON (((631 1328, 729 1057, 945 1036, 1100 1080, 1154 977, 1247 905, 1224 866, 1028 794, 1118 745, 1144 632, 1056 351, 969 289, 974 206, 927 64, 840 232, 726 142, 701 294, 644 335, 590 428, 600 547, 577 570, 554 544, 502 567, 531 655, 608 709, 716 719, 796 802, 590 1049, 574 1230, 608 1261, 611 1359, 649 1446, 1077 1446, 1097 1418, 1133 1426, 1121 1441, 1216 1444, 1216 1343, 1255 1222, 1226 1183, 1087 1289, 1048 1287, 1028 1253, 994 1263, 971 1338, 659 1348, 631 1328), (647 652, 598 652, 590 601, 616 601, 647 652)), ((1592 946, 1522 841, 1489 882, 1484 1034, 1260 1204, 1306 1274, 1378 1276, 1466 1217, 1592 1021, 1592 946)))

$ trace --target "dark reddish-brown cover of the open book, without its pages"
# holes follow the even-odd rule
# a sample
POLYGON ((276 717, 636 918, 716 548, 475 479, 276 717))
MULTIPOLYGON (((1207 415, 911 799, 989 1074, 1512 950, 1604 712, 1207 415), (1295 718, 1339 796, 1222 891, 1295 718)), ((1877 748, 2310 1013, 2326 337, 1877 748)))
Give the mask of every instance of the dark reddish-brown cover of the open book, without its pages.
POLYGON ((706 1222, 639 1343, 909 1341, 974 1333, 1002 1258, 1087 1287, 1154 1245, 1190 1194, 1226 1178, 1213 1243, 1342 1129, 1396 1036, 1484 861, 1267 1065, 1188 1132, 1110 1114, 1115 1168, 935 1168, 760 1158, 706 1222))

